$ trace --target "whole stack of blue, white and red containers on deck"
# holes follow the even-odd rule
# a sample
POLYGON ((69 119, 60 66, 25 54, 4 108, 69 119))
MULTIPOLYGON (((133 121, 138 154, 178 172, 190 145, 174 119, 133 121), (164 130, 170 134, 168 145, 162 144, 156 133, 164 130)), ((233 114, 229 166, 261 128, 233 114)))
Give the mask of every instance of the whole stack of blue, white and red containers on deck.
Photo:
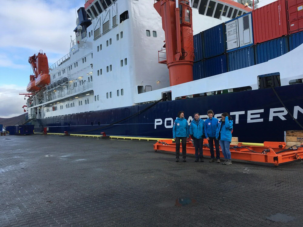
POLYGON ((302 43, 303 0, 272 2, 195 35, 194 80, 266 62, 302 43))

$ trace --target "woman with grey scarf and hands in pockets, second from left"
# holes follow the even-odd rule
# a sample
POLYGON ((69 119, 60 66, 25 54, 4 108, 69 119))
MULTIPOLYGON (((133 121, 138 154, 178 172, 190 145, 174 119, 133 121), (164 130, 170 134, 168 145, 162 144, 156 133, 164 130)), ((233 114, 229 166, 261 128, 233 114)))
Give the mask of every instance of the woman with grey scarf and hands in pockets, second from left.
POLYGON ((200 118, 199 113, 194 114, 194 119, 189 126, 189 135, 194 140, 195 146, 195 162, 203 160, 203 138, 204 138, 204 120, 200 118))

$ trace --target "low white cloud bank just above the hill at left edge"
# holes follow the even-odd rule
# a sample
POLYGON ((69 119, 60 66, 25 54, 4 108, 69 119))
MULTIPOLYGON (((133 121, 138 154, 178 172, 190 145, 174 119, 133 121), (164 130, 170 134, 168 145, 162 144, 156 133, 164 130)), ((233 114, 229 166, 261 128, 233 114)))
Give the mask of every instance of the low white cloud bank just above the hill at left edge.
POLYGON ((24 90, 24 87, 18 87, 14 84, 0 86, 0 117, 9 118, 24 113, 22 106, 26 105, 26 100, 24 100, 23 95, 18 95, 24 90))

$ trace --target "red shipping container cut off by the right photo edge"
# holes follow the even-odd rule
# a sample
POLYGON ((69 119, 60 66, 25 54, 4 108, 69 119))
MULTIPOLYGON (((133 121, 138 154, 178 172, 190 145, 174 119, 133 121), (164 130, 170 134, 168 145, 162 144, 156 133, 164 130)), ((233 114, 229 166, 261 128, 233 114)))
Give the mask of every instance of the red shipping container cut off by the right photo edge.
POLYGON ((303 31, 303 0, 287 0, 289 34, 303 31))

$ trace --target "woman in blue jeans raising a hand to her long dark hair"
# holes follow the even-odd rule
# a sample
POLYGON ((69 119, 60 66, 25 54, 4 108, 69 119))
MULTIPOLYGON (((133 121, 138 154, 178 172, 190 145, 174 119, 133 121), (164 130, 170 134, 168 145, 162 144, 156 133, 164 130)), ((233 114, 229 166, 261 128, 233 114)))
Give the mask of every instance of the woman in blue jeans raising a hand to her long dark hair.
POLYGON ((229 145, 231 143, 231 131, 232 131, 233 120, 232 120, 232 117, 229 116, 229 114, 226 112, 222 113, 221 117, 222 117, 222 119, 221 119, 221 122, 219 123, 217 132, 216 132, 216 139, 219 140, 219 142, 220 142, 222 153, 225 158, 225 161, 222 164, 230 165, 231 164, 231 153, 229 150, 229 145))

